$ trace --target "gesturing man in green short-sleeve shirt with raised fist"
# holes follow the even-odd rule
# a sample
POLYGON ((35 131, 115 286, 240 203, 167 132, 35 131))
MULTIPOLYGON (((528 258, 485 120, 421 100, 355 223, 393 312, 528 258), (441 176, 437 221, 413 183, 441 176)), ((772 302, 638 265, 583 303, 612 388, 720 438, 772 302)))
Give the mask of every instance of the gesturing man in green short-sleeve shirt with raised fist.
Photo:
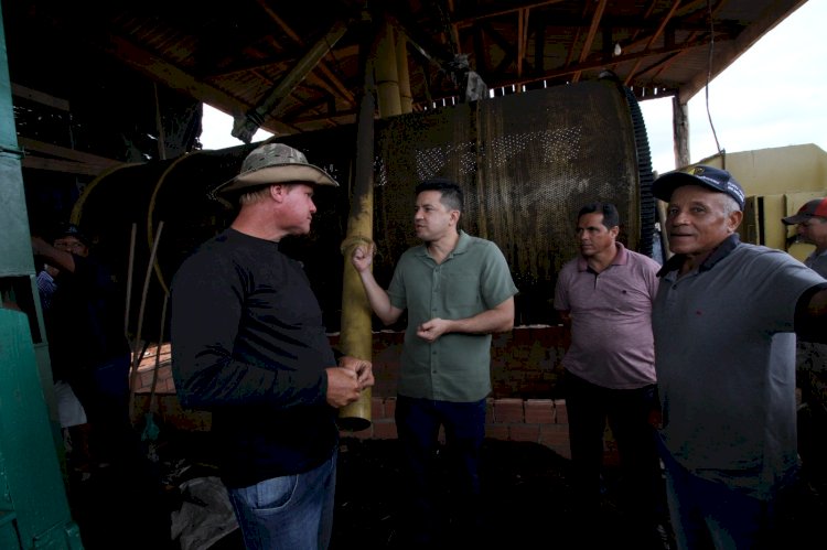
POLYGON ((421 245, 399 258, 390 287, 374 279, 374 245, 354 250, 370 308, 386 324, 405 310, 396 427, 406 459, 410 509, 406 539, 428 546, 439 536, 436 459, 444 427, 450 478, 460 502, 458 529, 448 536, 474 540, 482 532, 480 449, 485 398, 491 392, 491 335, 514 327, 514 284, 497 246, 459 229, 463 195, 448 180, 416 188, 414 226, 421 245))

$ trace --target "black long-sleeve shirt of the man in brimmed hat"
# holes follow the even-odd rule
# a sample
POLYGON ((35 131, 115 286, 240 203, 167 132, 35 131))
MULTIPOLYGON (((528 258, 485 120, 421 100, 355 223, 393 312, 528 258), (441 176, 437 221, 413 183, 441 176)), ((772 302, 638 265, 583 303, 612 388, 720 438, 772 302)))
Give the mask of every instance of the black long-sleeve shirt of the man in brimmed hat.
POLYGON ((227 229, 172 284, 172 373, 184 407, 213 412, 228 486, 307 472, 337 444, 324 371, 335 366, 301 265, 227 229))

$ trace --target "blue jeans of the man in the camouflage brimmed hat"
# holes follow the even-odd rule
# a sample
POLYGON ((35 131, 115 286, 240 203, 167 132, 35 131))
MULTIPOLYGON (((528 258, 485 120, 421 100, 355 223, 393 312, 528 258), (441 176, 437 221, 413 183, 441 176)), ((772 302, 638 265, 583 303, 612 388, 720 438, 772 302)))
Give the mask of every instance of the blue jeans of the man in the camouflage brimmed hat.
POLYGON ((229 502, 248 550, 324 550, 333 530, 336 486, 334 451, 303 474, 228 488, 229 502))

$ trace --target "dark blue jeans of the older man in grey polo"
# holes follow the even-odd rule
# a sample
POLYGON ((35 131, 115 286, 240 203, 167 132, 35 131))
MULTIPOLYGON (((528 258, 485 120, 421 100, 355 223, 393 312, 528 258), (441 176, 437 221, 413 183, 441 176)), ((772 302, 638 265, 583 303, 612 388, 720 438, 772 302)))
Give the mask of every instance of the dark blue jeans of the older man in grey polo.
POLYGON ((770 507, 722 483, 698 477, 664 445, 666 498, 678 550, 771 548, 770 507))

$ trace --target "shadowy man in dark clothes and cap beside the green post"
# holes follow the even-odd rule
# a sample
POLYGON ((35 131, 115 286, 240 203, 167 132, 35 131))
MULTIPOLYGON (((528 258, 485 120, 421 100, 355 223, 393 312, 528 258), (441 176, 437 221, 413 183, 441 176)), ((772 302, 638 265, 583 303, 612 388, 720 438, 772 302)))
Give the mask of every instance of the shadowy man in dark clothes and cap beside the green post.
POLYGON ((51 289, 41 287, 46 281, 40 274, 37 282, 49 293, 42 294, 43 316, 57 416, 72 447, 69 488, 96 503, 84 515, 85 525, 120 533, 140 514, 141 528, 121 547, 158 548, 169 541, 170 515, 129 414, 131 349, 123 334, 122 289, 80 227, 61 224, 50 237, 33 235, 31 244, 37 263, 54 277, 51 289))

